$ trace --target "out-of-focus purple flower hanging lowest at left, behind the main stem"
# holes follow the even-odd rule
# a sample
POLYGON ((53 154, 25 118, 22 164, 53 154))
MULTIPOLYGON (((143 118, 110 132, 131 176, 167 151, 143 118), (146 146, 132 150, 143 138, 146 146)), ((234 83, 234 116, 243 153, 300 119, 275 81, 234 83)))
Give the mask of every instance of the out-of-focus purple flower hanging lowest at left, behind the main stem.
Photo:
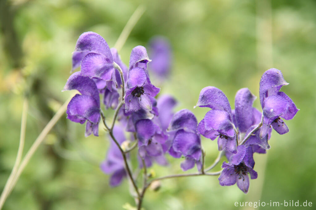
MULTIPOLYGON (((119 126, 114 126, 113 135, 119 144, 123 143, 125 139, 124 131, 119 126)), ((106 174, 112 174, 110 177, 110 185, 112 187, 118 186, 122 183, 124 177, 126 177, 126 171, 124 168, 124 160, 122 153, 118 146, 114 143, 110 137, 111 145, 108 149, 106 160, 100 164, 101 170, 106 174)))

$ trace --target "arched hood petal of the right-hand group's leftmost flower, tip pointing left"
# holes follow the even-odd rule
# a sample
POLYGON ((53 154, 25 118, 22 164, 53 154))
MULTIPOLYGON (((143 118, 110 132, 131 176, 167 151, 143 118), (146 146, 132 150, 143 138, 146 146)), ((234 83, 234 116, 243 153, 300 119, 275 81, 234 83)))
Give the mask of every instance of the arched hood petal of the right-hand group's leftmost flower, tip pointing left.
POLYGON ((195 107, 197 106, 225 110, 231 116, 231 108, 226 95, 216 87, 208 86, 203 88, 195 107))

